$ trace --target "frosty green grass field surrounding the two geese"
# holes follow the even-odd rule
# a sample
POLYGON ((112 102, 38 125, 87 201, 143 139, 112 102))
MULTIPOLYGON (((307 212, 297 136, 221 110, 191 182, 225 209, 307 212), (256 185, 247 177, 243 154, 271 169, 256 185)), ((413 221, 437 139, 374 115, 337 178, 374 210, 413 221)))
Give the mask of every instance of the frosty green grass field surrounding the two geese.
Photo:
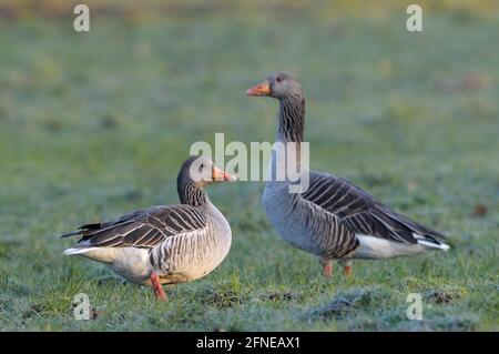
POLYGON ((499 52, 495 16, 405 9, 327 17, 190 12, 0 22, 0 330, 498 331, 499 52), (350 179, 449 235, 452 249, 357 261, 330 280, 261 208, 263 183, 208 190, 233 229, 223 265, 151 289, 69 259, 58 235, 177 201, 191 143, 272 141, 277 103, 245 89, 301 78, 312 166, 350 179), (91 321, 71 302, 86 293, 91 321), (406 317, 409 293, 422 321, 406 317))

